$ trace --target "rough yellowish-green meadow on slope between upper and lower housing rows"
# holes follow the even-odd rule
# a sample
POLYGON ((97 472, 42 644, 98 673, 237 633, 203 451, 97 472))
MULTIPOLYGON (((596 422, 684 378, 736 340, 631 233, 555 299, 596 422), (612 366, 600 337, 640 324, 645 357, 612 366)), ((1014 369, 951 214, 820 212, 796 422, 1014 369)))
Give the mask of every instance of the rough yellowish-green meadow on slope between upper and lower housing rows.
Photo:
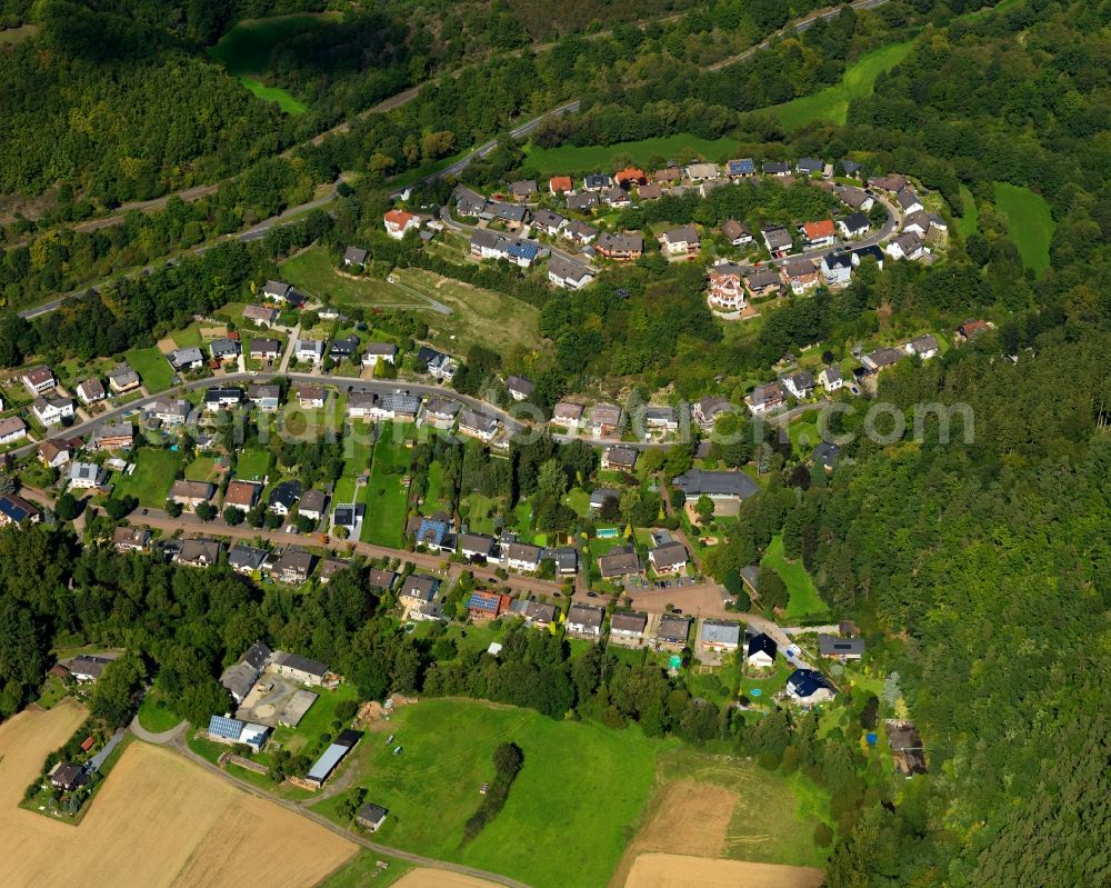
POLYGON ((429 325, 429 341, 457 355, 476 343, 506 350, 518 345, 537 348, 540 342, 536 306, 430 271, 398 269, 393 272, 396 285, 374 278, 346 278, 337 273, 328 251, 320 246, 283 262, 281 269, 282 278, 299 290, 321 300, 330 296, 337 306, 418 311, 429 325), (437 310, 436 303, 451 313, 437 310))

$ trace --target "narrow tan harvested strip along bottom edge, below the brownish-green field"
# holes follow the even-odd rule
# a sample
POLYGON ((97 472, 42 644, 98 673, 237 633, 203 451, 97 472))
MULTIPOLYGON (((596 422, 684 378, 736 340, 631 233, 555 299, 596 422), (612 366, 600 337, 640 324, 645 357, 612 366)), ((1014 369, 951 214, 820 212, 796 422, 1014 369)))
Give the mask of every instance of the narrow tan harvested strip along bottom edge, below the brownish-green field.
POLYGON ((643 854, 625 888, 818 888, 821 884, 822 871, 811 867, 643 854))

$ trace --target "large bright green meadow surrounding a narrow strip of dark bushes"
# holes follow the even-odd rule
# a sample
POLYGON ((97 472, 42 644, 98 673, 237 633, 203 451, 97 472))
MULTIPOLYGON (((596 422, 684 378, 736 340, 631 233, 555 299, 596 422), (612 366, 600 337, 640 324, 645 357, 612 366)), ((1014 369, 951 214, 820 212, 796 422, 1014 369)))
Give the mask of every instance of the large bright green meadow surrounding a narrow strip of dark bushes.
MULTIPOLYGON (((655 754, 668 746, 637 728, 553 721, 532 710, 463 700, 407 706, 389 730, 393 744, 371 734, 357 750, 357 784, 390 810, 376 838, 536 888, 605 885, 652 789, 655 754), (504 809, 461 847, 463 824, 482 800, 479 786, 493 778, 493 750, 506 741, 521 747, 524 766, 504 809), (404 748, 401 756, 391 755, 394 745, 404 748), (575 850, 573 867, 568 847, 575 850)), ((313 808, 337 819, 342 798, 313 808)))

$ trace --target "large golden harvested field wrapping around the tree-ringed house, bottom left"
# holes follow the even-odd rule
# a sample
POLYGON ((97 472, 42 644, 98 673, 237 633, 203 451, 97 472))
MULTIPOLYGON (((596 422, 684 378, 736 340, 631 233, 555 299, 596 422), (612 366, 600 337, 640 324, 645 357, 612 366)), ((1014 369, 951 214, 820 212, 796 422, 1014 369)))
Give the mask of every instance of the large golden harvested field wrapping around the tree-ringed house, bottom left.
POLYGON ((6 886, 234 885, 244 850, 264 837, 266 852, 250 852, 252 878, 308 888, 356 851, 339 836, 146 744, 128 748, 78 827, 16 807, 46 755, 83 718, 81 707, 63 704, 0 726, 6 886))

